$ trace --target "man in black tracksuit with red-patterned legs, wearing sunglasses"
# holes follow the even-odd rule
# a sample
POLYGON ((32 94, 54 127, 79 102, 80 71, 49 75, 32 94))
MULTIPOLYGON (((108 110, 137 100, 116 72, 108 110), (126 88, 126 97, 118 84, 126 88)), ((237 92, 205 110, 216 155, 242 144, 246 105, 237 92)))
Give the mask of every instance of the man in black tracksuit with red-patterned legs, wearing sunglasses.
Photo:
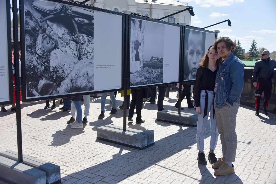
POLYGON ((274 68, 276 68, 276 61, 270 59, 269 51, 264 50, 261 54, 261 59, 255 63, 255 67, 253 70, 253 85, 256 88, 255 91, 255 109, 256 116, 259 116, 259 108, 262 92, 264 92, 264 114, 267 114, 267 105, 269 102, 269 98, 271 96, 272 90, 272 76, 274 73, 274 68), (257 82, 258 77, 258 82, 257 82))

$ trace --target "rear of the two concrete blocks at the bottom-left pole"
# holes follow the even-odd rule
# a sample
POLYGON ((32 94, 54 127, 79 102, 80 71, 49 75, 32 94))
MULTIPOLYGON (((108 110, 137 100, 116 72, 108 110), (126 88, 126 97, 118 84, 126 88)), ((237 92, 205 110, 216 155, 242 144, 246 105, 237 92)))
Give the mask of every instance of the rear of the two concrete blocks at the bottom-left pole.
MULTIPOLYGON (((14 161, 17 161, 18 159, 17 152, 12 150, 3 151, 0 153, 0 155, 14 161)), ((47 184, 61 183, 60 166, 33 158, 28 155, 23 155, 23 164, 45 172, 47 184)))

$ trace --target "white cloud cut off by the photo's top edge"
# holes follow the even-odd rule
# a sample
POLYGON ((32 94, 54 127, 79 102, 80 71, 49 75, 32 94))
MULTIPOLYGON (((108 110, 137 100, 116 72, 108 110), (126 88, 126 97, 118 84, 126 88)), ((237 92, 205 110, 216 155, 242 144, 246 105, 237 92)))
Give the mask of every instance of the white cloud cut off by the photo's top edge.
MULTIPOLYGON (((191 2, 191 0, 180 0, 180 2, 187 3, 191 2)), ((244 0, 224 0, 224 1, 217 1, 217 0, 194 0, 196 4, 199 4, 201 7, 222 7, 222 6, 230 6, 234 3, 244 2, 244 0)))

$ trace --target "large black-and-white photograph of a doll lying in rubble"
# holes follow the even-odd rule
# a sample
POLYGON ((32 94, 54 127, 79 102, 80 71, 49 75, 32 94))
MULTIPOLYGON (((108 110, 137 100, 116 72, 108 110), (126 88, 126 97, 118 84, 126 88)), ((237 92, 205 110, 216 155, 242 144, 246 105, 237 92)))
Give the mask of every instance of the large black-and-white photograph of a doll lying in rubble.
POLYGON ((94 90, 94 11, 25 0, 26 97, 94 90))

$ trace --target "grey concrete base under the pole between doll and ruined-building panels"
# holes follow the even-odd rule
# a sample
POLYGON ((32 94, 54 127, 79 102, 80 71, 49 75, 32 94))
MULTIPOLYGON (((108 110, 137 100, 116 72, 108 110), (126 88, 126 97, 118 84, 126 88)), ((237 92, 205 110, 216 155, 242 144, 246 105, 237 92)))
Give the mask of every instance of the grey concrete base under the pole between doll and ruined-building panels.
POLYGON ((154 133, 142 130, 127 128, 123 131, 123 127, 115 125, 106 125, 97 128, 97 139, 105 140, 131 148, 143 150, 154 145, 154 133))

